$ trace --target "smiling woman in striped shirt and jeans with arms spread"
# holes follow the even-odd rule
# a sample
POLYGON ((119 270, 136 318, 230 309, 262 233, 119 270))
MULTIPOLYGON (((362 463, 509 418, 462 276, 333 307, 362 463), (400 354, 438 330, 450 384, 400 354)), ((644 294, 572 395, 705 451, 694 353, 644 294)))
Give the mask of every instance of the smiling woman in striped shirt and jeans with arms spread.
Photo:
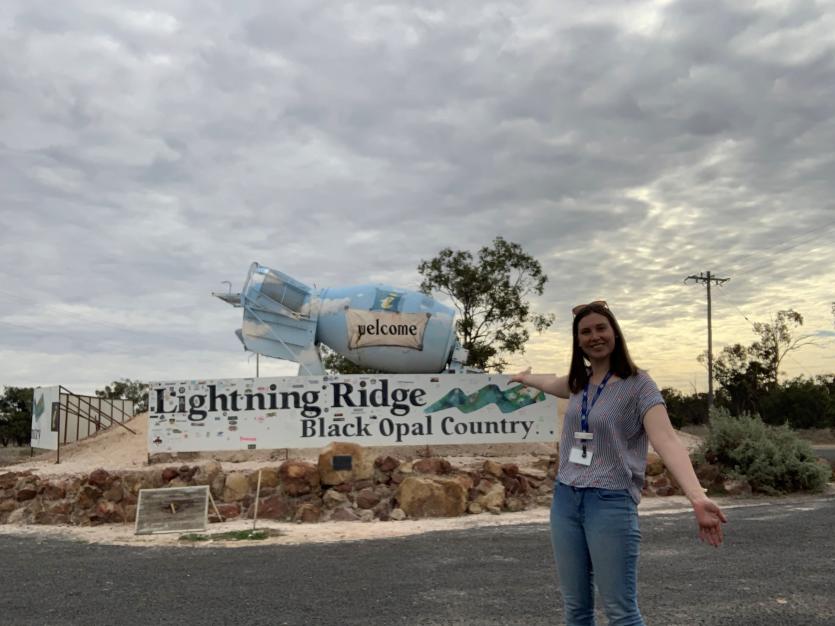
POLYGON ((511 378, 569 404, 551 505, 551 540, 569 626, 594 624, 594 583, 611 624, 644 624, 638 610, 637 505, 647 442, 693 505, 699 537, 722 542, 727 519, 699 484, 655 382, 629 356, 603 301, 574 307, 568 376, 511 378))

